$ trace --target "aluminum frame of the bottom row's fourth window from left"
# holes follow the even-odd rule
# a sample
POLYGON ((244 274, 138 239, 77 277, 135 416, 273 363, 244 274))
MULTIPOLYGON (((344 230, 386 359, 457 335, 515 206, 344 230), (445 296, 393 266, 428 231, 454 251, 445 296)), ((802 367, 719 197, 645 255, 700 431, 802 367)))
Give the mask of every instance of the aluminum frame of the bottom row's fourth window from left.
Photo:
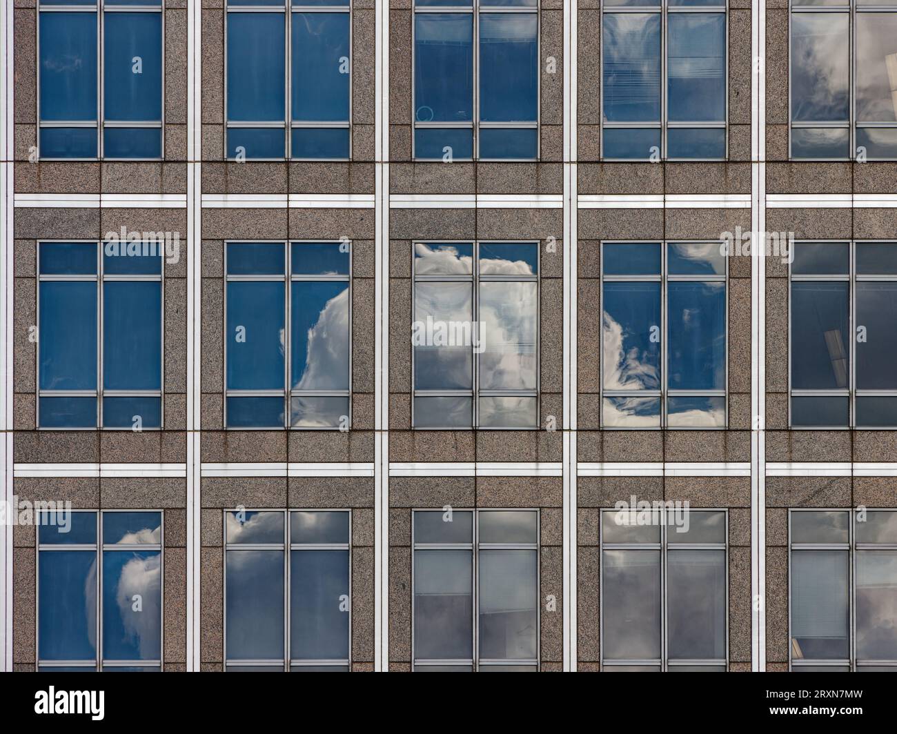
MULTIPOLYGON (((635 509, 635 508, 631 508, 635 509)), ((626 668, 631 666, 639 666, 644 668, 660 668, 660 672, 669 672, 669 668, 673 667, 684 667, 684 666, 706 666, 710 668, 725 666, 726 672, 729 671, 729 658, 731 656, 731 646, 729 644, 729 546, 731 545, 729 542, 729 511, 728 508, 725 507, 695 507, 689 508, 687 511, 694 512, 722 512, 723 516, 726 520, 726 542, 725 543, 670 543, 668 540, 668 533, 666 531, 669 526, 669 514, 675 512, 674 509, 665 507, 663 512, 666 515, 666 522, 659 523, 659 542, 658 543, 639 543, 639 542, 629 542, 629 543, 605 543, 605 531, 604 531, 604 514, 605 512, 619 512, 619 508, 615 507, 602 507, 598 510, 598 553, 599 553, 599 563, 598 563, 598 608, 601 609, 601 615, 598 622, 598 634, 600 640, 600 669, 602 672, 614 672, 608 670, 608 668, 626 668), (670 549, 669 546, 673 546, 674 550, 708 550, 708 551, 725 551, 724 556, 724 564, 726 566, 726 581, 725 581, 725 593, 726 593, 726 659, 708 659, 708 660, 699 660, 699 659, 675 659, 669 660, 668 656, 668 583, 667 583, 667 553, 670 549), (660 557, 658 563, 660 564, 660 659, 654 660, 639 660, 639 659, 627 659, 627 660, 605 660, 605 550, 657 550, 660 552, 660 557)), ((653 511, 653 508, 652 510, 653 511)))

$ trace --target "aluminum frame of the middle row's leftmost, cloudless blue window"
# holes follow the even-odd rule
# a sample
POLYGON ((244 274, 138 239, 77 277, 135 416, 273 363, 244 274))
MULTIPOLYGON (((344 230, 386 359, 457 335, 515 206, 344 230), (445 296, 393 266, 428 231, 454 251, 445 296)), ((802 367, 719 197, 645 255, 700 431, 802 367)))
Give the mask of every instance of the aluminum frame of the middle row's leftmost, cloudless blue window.
MULTIPOLYGON (((103 268, 103 248, 106 243, 102 240, 35 240, 35 271, 36 271, 36 296, 35 318, 38 326, 38 342, 35 349, 35 406, 34 421, 38 431, 134 431, 133 427, 107 427, 103 425, 103 398, 159 398, 159 425, 144 426, 140 431, 162 431, 165 429, 165 243, 149 242, 159 251, 160 274, 159 275, 106 275, 103 268), (40 273, 40 245, 53 244, 54 242, 72 242, 83 244, 95 244, 97 246, 97 272, 96 275, 41 275, 40 273), (89 283, 97 284, 97 387, 93 390, 48 390, 40 388, 40 284, 49 282, 89 283), (104 283, 156 283, 160 284, 160 364, 159 364, 159 389, 158 390, 107 390, 103 387, 103 344, 105 315, 103 284, 104 283), (41 426, 40 425, 40 398, 58 397, 83 397, 97 399, 97 420, 93 426, 41 426)), ((141 240, 141 244, 147 244, 141 240)))

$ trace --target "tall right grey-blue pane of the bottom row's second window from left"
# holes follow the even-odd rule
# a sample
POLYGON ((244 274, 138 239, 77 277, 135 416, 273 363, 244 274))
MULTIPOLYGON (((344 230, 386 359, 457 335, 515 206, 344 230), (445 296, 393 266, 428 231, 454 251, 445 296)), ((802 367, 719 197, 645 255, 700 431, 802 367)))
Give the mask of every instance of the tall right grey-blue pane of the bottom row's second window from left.
POLYGON ((349 658, 349 551, 290 554, 290 657, 349 658))

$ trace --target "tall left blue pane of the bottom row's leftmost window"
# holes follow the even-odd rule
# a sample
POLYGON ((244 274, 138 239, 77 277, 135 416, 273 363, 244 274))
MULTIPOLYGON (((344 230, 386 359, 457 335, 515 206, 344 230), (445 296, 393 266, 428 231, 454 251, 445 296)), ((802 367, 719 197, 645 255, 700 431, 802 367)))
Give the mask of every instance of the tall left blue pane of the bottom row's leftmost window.
POLYGON ((40 551, 39 567, 38 657, 95 659, 96 551, 40 551))

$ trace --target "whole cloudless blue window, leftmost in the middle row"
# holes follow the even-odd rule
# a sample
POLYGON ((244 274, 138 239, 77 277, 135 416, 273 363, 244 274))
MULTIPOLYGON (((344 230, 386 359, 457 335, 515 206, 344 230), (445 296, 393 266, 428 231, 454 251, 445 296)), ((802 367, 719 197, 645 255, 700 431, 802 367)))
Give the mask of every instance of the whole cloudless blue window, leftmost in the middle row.
POLYGON ((163 240, 38 243, 40 428, 161 428, 163 240))

